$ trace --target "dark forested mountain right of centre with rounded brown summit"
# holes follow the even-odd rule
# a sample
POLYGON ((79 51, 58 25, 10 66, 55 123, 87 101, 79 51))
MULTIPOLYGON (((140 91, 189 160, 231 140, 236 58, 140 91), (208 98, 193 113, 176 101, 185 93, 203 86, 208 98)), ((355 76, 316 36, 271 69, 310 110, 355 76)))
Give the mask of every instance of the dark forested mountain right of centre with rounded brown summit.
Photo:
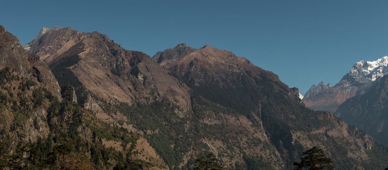
POLYGON ((261 141, 275 146, 286 169, 292 168, 304 148, 314 145, 325 148, 337 169, 370 169, 374 163, 368 160, 375 159, 376 152, 386 154, 364 132, 331 113, 306 108, 298 89, 229 51, 205 46, 169 62, 164 67, 186 83, 194 96, 229 108, 264 129, 261 133, 267 138, 261 141))

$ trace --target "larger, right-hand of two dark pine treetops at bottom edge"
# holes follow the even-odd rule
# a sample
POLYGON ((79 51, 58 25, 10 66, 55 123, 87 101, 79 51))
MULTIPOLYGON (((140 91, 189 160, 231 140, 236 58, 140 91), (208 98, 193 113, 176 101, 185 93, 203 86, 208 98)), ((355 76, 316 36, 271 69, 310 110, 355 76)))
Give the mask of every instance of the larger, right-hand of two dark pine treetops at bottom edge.
POLYGON ((333 170, 333 161, 327 158, 322 149, 313 147, 303 152, 300 163, 294 162, 295 170, 333 170), (304 156, 305 155, 305 156, 304 156))

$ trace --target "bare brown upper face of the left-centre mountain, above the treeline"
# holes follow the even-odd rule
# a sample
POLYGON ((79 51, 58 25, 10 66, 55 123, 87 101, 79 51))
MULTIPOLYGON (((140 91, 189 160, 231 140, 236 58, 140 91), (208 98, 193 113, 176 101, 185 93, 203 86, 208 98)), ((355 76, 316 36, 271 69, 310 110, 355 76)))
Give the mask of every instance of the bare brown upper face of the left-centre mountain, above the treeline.
POLYGON ((134 104, 168 99, 183 110, 190 108, 184 85, 148 55, 126 51, 105 34, 64 28, 35 41, 29 52, 43 56, 62 88, 75 87, 79 102, 85 101, 90 91, 108 101, 134 104))

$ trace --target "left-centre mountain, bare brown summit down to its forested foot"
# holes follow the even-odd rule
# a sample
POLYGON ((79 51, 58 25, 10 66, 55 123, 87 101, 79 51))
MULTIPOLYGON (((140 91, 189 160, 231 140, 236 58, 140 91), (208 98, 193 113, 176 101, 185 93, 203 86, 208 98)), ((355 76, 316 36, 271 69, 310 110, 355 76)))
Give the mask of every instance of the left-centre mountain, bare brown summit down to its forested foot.
MULTIPOLYGON (((49 37, 50 34, 59 35, 58 39, 62 37, 54 32, 48 32, 45 36, 49 37)), ((52 58, 44 61, 50 65, 62 88, 69 85, 74 87, 78 102, 84 103, 86 107, 91 106, 89 108, 95 107, 99 112, 113 117, 113 120, 131 127, 134 133, 144 135, 170 168, 187 167, 194 157, 210 149, 219 153, 231 167, 244 163, 244 153, 265 149, 265 152, 247 156, 262 155, 265 162, 273 164, 265 163, 261 166, 275 169, 283 167, 282 160, 277 158, 279 154, 272 153, 273 146, 254 144, 257 137, 263 138, 263 132, 258 133, 257 128, 251 128, 251 122, 246 117, 220 114, 218 111, 233 112, 189 94, 185 84, 144 53, 125 51, 106 35, 97 32, 82 34, 87 35, 63 53, 45 51, 51 48, 42 46, 42 51, 38 49, 37 55, 48 54, 46 59, 52 58), (123 87, 129 88, 127 90, 123 87), (128 93, 116 93, 118 88, 128 93), (120 95, 124 100, 119 98, 120 95), (205 117, 204 113, 209 117, 205 117), (125 119, 113 116, 115 114, 122 114, 125 119), (213 118, 215 122, 204 118, 213 118), (222 125, 230 132, 223 129, 208 131, 205 128, 215 125, 222 125), (242 144, 231 136, 256 137, 247 138, 247 142, 242 144), (230 141, 224 143, 221 138, 230 141), (227 146, 234 147, 230 149, 227 146)), ((60 42, 55 37, 49 39, 60 42)))

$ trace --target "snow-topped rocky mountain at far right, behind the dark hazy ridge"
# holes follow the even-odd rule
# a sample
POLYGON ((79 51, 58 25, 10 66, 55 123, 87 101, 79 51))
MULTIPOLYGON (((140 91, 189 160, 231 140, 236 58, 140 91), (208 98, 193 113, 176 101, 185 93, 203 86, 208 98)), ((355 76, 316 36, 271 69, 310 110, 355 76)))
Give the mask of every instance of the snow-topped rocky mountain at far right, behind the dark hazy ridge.
POLYGON ((347 99, 363 94, 371 83, 388 73, 388 56, 376 61, 359 61, 334 86, 312 85, 303 98, 305 105, 314 110, 335 112, 347 99))

